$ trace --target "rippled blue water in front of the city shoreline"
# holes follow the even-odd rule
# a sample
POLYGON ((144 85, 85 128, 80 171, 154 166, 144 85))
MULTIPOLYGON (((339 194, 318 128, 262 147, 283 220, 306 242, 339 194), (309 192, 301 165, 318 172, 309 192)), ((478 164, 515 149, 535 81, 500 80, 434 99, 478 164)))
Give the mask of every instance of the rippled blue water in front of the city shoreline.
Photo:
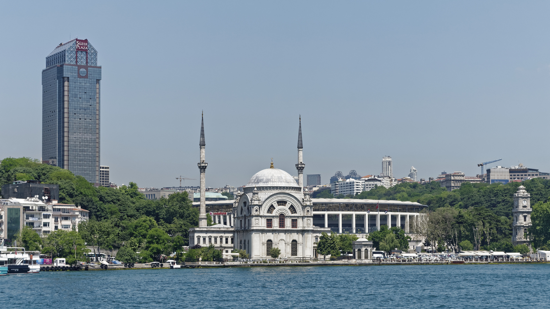
POLYGON ((550 307, 550 264, 251 267, 0 277, 0 308, 550 307))

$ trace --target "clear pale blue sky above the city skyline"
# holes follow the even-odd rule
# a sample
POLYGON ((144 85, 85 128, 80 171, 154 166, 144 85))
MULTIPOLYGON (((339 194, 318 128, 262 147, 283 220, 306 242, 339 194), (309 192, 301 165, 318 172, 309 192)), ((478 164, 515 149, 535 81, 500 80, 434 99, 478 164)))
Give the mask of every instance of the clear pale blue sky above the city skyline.
MULTIPOLYGON (((478 163, 550 170, 550 3, 0 3, 0 158, 42 156, 41 71, 88 39, 101 80, 101 165, 117 185, 241 186, 270 166, 419 178, 478 163), (185 180, 183 185, 199 185, 185 180)), ((305 181, 305 176, 304 176, 305 181)))

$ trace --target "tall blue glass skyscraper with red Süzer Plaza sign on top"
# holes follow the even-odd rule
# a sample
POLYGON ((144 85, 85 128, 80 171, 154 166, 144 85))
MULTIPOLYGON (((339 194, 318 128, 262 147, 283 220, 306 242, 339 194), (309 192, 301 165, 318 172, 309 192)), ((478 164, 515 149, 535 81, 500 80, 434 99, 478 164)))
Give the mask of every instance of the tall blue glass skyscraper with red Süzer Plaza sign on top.
POLYGON ((88 40, 60 43, 42 70, 42 162, 100 185, 100 80, 88 40))

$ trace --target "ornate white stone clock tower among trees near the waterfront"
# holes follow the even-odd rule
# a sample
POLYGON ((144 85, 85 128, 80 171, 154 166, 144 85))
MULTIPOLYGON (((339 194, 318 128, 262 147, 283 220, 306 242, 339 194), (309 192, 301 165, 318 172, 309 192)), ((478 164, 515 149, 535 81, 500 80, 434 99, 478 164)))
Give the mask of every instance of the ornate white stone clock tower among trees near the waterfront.
POLYGON ((514 206, 512 208, 512 214, 514 216, 514 222, 512 223, 512 244, 529 246, 531 250, 531 244, 529 238, 527 238, 527 228, 531 227, 531 195, 525 191, 524 186, 519 186, 518 191, 514 194, 514 206))

